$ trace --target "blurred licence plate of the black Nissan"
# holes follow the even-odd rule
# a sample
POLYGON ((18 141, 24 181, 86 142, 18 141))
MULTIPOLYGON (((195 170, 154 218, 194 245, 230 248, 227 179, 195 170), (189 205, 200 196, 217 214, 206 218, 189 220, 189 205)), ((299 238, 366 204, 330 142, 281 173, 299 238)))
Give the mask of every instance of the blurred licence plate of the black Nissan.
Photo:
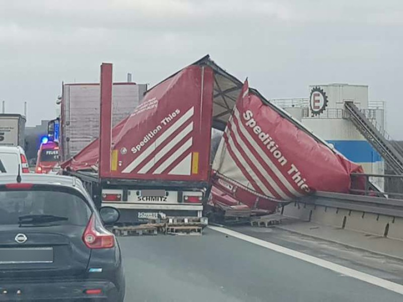
POLYGON ((0 264, 52 263, 53 248, 0 249, 0 264))

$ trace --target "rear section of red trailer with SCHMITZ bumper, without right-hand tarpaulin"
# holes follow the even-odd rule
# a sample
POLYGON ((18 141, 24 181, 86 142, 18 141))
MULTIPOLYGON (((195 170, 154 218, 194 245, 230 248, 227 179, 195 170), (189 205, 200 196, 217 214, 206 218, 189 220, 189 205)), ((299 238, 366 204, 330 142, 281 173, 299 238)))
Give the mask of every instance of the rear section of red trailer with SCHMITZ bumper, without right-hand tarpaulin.
POLYGON ((150 89, 112 129, 111 65, 101 67, 100 137, 62 164, 120 222, 201 217, 210 181, 213 70, 191 65, 150 89))

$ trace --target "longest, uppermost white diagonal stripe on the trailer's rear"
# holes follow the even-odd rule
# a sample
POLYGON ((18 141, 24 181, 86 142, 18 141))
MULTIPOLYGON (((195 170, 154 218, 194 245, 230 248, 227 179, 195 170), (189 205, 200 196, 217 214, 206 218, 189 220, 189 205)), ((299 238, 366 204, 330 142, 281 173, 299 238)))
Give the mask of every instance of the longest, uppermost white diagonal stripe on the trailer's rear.
POLYGON ((136 167, 139 166, 151 153, 153 153, 154 150, 161 143, 163 143, 164 140, 167 139, 169 135, 171 135, 176 129, 178 129, 190 117, 192 117, 193 113, 194 113, 194 107, 186 111, 186 113, 183 114, 175 123, 173 123, 172 126, 170 126, 168 129, 165 130, 164 133, 162 133, 159 137, 157 137, 154 143, 152 143, 147 149, 143 151, 141 155, 139 155, 134 161, 132 161, 126 168, 122 170, 122 173, 130 173, 131 171, 136 169, 136 167))

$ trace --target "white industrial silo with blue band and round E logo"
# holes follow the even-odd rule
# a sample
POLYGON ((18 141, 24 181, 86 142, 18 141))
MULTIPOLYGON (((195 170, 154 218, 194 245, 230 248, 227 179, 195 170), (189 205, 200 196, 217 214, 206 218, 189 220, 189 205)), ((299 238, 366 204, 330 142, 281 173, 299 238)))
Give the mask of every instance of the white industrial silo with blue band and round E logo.
MULTIPOLYGON (((307 99, 277 99, 273 103, 286 109, 299 120, 294 107, 305 107, 302 110, 301 122, 332 144, 349 160, 360 164, 367 174, 384 174, 384 162, 378 152, 361 135, 352 121, 347 117, 344 103, 353 101, 365 115, 384 129, 383 102, 368 101, 368 86, 349 84, 328 84, 309 86, 307 99), (291 101, 293 100, 293 101, 291 101), (299 100, 299 103, 295 100, 299 100), (292 103, 294 107, 287 106, 292 103)), ((382 178, 371 179, 380 189, 383 189, 382 178)))

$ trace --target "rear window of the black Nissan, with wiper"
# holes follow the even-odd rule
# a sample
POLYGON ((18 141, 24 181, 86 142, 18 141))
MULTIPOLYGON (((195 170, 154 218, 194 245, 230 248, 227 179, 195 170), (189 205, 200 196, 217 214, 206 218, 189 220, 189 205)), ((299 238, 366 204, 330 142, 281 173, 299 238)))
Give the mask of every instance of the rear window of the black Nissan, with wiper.
POLYGON ((82 197, 60 187, 0 190, 0 225, 86 225, 91 209, 82 197))

